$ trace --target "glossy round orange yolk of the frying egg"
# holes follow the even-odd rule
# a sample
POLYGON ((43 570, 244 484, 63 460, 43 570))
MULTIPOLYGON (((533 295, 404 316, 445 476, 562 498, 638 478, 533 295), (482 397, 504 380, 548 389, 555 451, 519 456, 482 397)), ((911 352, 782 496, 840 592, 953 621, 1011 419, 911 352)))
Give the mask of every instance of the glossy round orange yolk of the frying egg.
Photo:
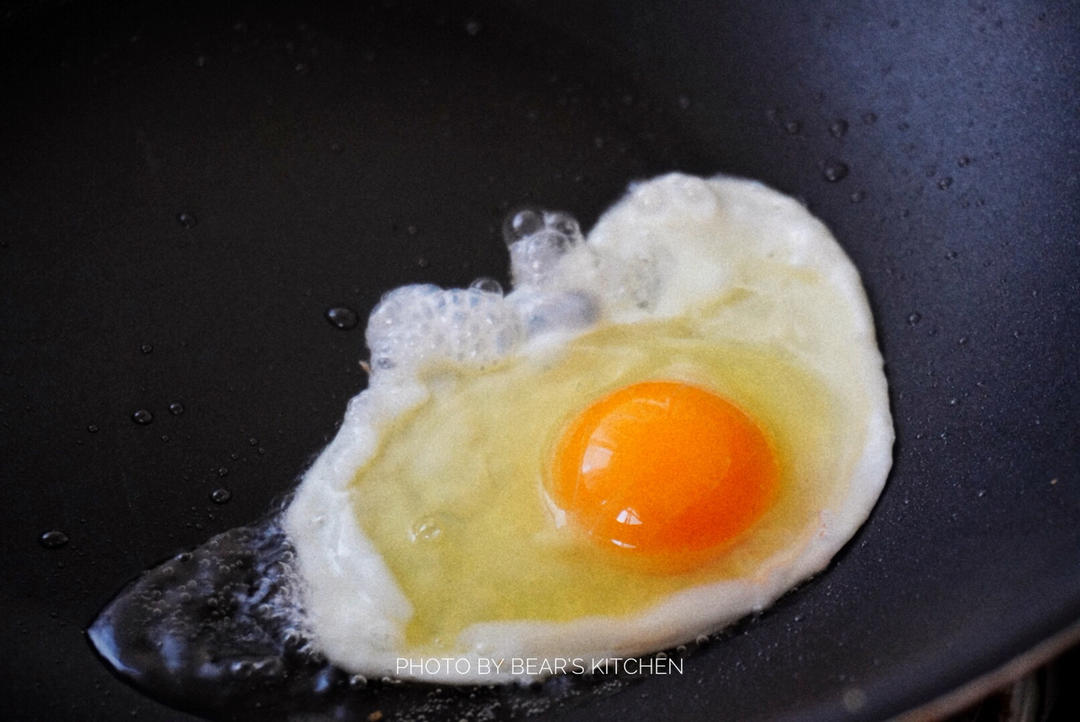
POLYGON ((567 425, 545 487, 597 544, 677 562, 752 527, 778 477, 769 438, 741 409, 698 386, 647 381, 567 425))

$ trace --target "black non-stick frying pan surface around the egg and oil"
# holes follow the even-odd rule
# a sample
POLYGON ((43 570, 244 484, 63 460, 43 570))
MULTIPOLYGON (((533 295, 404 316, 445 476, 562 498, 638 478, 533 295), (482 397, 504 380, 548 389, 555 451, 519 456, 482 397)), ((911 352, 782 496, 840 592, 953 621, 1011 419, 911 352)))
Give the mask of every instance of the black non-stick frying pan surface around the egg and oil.
MULTIPOLYGON (((365 351, 326 310, 504 280, 508 209, 589 227, 671 169, 759 178, 834 230, 875 311, 895 465, 828 570, 683 675, 487 691, 490 711, 879 719, 1061 649, 1080 619, 1078 38, 1076 4, 991 0, 5 3, 4 716, 189 719, 83 630, 328 441, 365 351)), ((476 711, 468 691, 381 693, 348 713, 476 711)))

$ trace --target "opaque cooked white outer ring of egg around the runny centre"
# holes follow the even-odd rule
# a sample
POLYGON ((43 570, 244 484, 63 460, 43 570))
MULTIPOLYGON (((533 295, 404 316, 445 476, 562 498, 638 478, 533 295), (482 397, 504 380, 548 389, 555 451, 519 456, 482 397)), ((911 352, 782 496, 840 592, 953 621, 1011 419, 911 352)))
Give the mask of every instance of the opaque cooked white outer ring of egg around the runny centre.
POLYGON ((692 640, 766 608, 823 569, 885 485, 893 430, 869 306, 851 261, 793 199, 754 181, 671 174, 633 186, 584 243, 545 257, 543 273, 518 261, 515 288, 505 297, 407 287, 373 313, 373 362, 384 363, 375 363, 368 389, 350 401, 340 431, 286 512, 309 634, 350 671, 487 683, 529 677, 509 665, 492 671, 483 664, 489 659, 554 666, 692 640), (703 343, 781 348, 846 409, 858 410, 846 437, 859 446, 849 450, 847 477, 836 481, 840 493, 823 498, 812 528, 745 577, 681 589, 629 615, 477 619, 453 645, 450 656, 460 664, 403 669, 403 657, 422 662, 405 642, 414 602, 361 529, 350 485, 388 430, 438 393, 426 371, 450 364, 483 374, 515 359, 557 362, 572 339, 591 330, 688 314, 703 343))

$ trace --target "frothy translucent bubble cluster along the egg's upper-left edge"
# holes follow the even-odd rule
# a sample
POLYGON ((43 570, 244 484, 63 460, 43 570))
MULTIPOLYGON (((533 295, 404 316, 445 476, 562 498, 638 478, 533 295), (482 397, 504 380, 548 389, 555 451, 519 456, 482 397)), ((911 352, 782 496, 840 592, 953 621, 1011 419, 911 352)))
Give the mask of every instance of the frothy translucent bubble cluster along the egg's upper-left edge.
POLYGON ((440 363, 489 366, 528 339, 578 332, 627 309, 649 310, 663 287, 664 263, 648 239, 630 255, 594 248, 572 216, 551 210, 518 212, 505 234, 510 294, 477 278, 468 288, 415 284, 382 297, 367 323, 373 382, 440 363))

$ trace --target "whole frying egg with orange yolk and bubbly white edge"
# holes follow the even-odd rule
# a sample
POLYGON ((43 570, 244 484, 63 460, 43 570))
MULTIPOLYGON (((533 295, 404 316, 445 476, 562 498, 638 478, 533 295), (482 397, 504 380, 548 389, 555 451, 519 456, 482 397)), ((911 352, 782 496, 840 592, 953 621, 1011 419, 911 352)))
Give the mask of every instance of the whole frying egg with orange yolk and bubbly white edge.
POLYGON ((885 485, 870 311, 798 202, 671 174, 588 237, 509 233, 510 292, 383 297, 286 510, 308 634, 350 671, 487 683, 693 640, 823 569, 885 485))

